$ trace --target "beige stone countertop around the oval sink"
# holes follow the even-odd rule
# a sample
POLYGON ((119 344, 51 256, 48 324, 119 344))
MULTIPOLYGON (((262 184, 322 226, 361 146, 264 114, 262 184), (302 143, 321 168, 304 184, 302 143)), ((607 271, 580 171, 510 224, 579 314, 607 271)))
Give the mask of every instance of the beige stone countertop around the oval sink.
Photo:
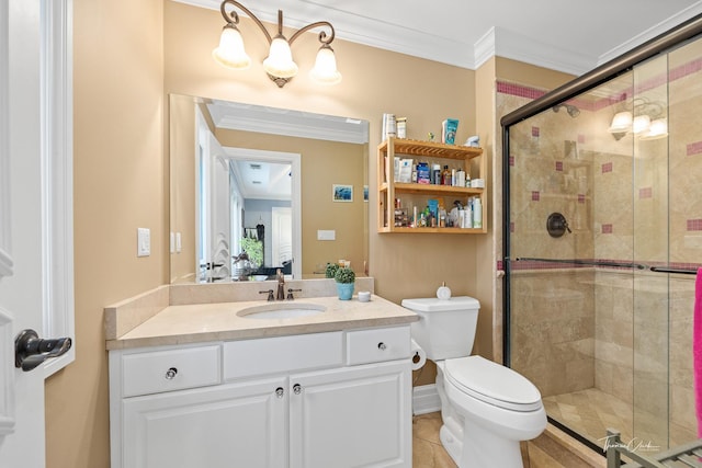
MULTIPOLYGON (((359 301, 356 295, 351 300, 324 296, 278 303, 258 299, 167 305, 158 311, 150 312, 150 317, 136 323, 128 331, 122 334, 112 333, 111 326, 107 323, 110 311, 118 310, 120 307, 128 309, 125 304, 105 308, 107 350, 319 333, 407 324, 418 320, 416 313, 376 295, 372 295, 369 303, 359 301), (250 307, 267 305, 274 307, 276 304, 286 307, 294 305, 301 308, 308 304, 321 306, 326 310, 312 316, 286 319, 256 319, 237 315, 238 311, 250 307)), ((150 307, 154 308, 152 305, 150 307)), ((134 310, 122 311, 123 315, 128 312, 134 310)))

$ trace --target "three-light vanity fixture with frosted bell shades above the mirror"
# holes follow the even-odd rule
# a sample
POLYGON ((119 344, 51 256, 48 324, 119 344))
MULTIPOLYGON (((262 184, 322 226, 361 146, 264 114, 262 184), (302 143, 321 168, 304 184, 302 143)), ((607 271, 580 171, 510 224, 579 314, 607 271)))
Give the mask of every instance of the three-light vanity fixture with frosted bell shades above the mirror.
POLYGON ((239 24, 239 15, 236 9, 244 11, 263 32, 268 43, 270 44, 269 56, 263 60, 263 69, 271 80, 283 88, 285 83, 297 75, 297 65, 293 60, 291 45, 301 34, 315 27, 329 28, 330 34, 326 31, 319 33, 319 42, 321 47, 317 52, 315 67, 309 71, 310 78, 320 84, 337 84, 341 81, 341 73, 337 70, 337 59, 331 48, 331 42, 335 37, 335 31, 328 21, 318 21, 297 30, 290 38, 283 35, 283 12, 278 10, 278 34, 271 37, 263 23, 249 9, 235 0, 224 0, 219 5, 222 16, 227 22, 222 30, 219 37, 219 46, 212 52, 215 60, 224 67, 233 69, 247 69, 251 65, 251 59, 244 49, 244 38, 237 27, 239 24))

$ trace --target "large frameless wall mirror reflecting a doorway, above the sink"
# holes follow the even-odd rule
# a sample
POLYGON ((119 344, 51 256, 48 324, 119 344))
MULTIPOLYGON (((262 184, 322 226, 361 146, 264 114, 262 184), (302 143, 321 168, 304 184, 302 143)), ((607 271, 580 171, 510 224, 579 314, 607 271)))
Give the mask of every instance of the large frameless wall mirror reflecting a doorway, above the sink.
POLYGON ((365 273, 369 124, 171 94, 171 283, 365 273))

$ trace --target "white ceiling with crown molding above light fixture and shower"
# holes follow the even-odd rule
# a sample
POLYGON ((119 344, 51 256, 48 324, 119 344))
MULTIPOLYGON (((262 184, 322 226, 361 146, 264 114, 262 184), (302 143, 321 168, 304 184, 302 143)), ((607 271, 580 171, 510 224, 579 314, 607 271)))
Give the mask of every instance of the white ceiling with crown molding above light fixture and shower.
MULTIPOLYGON (((217 0, 177 0, 218 9, 217 0)), ((702 14, 702 0, 242 0, 261 21, 326 20, 337 38, 462 68, 492 56, 573 75, 702 14)), ((241 13, 242 14, 242 13, 241 13)), ((273 31, 272 31, 273 33, 273 31)), ((343 73, 343 60, 339 59, 343 73)))

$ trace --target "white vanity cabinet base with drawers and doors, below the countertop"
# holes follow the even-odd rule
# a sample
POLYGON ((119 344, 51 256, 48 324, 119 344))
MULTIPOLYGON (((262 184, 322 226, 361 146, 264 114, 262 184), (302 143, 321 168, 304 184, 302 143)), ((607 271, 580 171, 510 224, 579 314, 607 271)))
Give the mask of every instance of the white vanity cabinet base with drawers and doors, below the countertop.
POLYGON ((408 326, 110 351, 113 468, 411 467, 408 326))

